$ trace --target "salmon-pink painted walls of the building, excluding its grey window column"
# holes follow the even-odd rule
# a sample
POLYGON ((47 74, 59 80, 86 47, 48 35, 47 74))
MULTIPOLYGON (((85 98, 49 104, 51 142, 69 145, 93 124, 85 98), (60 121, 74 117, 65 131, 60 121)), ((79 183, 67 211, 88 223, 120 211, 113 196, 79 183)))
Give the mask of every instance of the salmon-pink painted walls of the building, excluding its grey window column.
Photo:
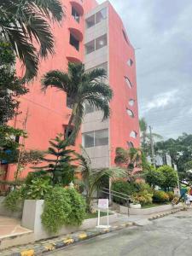
MULTIPOLYGON (((67 108, 67 96, 64 93, 55 89, 49 89, 45 94, 41 91, 42 76, 53 69, 67 71, 68 61, 84 62, 86 59, 84 52, 85 19, 87 14, 93 13, 94 9, 98 8, 98 4, 95 0, 62 0, 62 2, 65 5, 66 18, 59 26, 56 24, 52 26, 55 36, 55 55, 49 56, 46 61, 41 61, 38 78, 29 85, 30 92, 20 97, 22 113, 11 123, 15 128, 23 128, 22 122, 27 113, 26 149, 47 149, 49 140, 55 138, 57 133, 63 133, 71 114, 71 109, 67 108), (77 19, 74 14, 72 15, 74 11, 77 11, 80 16, 77 19), (71 37, 79 41, 79 49, 70 44, 71 37)), ((114 94, 108 126, 109 166, 111 166, 116 147, 127 148, 127 143, 133 143, 134 147, 138 147, 140 142, 134 49, 126 37, 119 15, 110 3, 105 4, 108 6, 108 82, 114 94), (128 63, 128 61, 131 62, 128 63), (131 84, 128 85, 125 78, 128 78, 131 84), (133 113, 132 117, 128 114, 128 110, 131 110, 129 113, 133 113), (136 131, 136 137, 130 137, 131 131, 136 131)), ((19 74, 22 73, 19 64, 17 71, 19 74)), ((79 151, 80 144, 82 144, 81 133, 73 148, 79 151)), ((12 179, 14 172, 15 166, 9 165, 6 179, 12 179)), ((22 172, 22 176, 26 176, 27 172, 29 168, 22 172)))

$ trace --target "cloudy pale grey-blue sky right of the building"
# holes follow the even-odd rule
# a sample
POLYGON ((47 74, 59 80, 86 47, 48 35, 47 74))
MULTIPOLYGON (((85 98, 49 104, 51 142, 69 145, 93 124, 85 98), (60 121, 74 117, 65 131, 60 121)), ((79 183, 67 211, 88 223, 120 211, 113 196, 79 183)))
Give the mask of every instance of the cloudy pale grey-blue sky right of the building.
POLYGON ((166 138, 192 133, 192 1, 110 2, 121 16, 131 44, 139 48, 140 117, 166 138))

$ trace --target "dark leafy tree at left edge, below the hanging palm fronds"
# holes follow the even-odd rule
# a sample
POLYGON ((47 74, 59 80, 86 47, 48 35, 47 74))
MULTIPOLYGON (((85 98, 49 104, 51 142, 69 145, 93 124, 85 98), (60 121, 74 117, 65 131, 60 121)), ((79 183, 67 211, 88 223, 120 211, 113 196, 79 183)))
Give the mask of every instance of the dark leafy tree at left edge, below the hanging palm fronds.
POLYGON ((18 113, 19 96, 28 92, 15 75, 15 55, 11 45, 0 41, 0 125, 6 124, 18 113))

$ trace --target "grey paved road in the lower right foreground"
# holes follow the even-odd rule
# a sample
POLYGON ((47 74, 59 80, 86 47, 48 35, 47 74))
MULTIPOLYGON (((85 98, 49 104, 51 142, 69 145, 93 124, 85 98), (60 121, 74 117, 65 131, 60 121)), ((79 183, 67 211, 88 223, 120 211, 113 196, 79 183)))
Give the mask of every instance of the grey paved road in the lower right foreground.
POLYGON ((145 226, 98 236, 49 255, 191 256, 192 211, 178 212, 145 226))

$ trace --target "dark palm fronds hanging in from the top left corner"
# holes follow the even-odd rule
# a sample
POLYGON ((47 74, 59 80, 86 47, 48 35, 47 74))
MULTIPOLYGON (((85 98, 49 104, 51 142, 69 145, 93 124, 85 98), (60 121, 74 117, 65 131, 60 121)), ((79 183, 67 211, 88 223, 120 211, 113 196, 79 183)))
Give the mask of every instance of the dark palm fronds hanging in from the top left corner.
POLYGON ((61 21, 63 16, 60 0, 0 1, 0 38, 12 45, 26 67, 26 79, 37 75, 39 56, 54 53, 49 21, 61 21))

